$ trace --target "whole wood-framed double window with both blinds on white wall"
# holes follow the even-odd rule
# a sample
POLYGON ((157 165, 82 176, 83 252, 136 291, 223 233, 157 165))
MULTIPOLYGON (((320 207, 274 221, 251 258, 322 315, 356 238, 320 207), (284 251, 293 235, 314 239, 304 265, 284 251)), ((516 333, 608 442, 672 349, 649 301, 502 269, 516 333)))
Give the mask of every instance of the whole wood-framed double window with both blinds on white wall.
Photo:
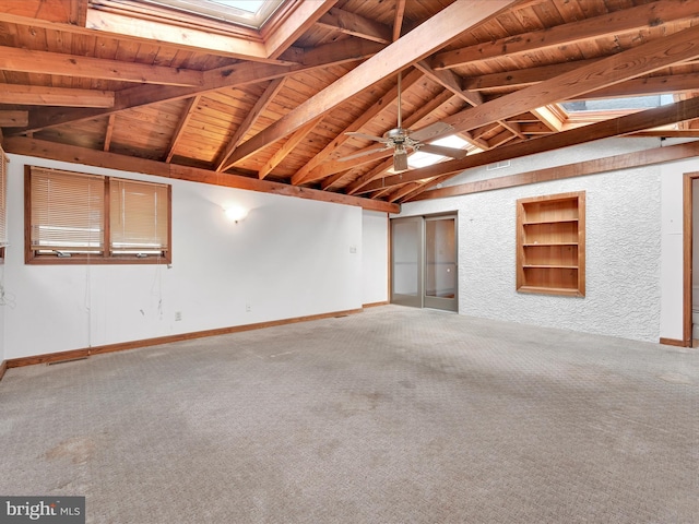
POLYGON ((26 188, 27 263, 170 261, 169 186, 28 166, 26 188))

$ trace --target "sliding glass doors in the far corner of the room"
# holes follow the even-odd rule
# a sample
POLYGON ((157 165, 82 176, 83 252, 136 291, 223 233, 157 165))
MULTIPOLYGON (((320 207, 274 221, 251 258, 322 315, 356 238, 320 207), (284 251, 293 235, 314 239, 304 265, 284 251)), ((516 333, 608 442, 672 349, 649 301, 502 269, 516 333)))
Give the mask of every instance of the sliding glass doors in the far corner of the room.
POLYGON ((458 311, 457 215, 391 221, 391 302, 458 311))

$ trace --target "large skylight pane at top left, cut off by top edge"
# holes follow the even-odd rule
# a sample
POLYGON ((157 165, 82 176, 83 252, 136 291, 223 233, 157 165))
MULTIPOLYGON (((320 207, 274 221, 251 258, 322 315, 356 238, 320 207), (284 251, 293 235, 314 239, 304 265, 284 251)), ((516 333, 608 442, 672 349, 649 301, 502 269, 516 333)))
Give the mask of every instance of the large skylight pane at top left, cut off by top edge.
POLYGON ((189 14, 259 29, 284 0, 143 0, 189 14))

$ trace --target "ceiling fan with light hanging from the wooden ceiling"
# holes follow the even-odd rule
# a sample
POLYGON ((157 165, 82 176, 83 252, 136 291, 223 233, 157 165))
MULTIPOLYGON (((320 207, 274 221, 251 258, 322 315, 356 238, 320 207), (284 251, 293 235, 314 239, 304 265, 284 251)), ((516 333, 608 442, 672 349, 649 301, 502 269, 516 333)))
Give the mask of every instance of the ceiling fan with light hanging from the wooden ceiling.
POLYGON ((439 156, 449 156, 451 158, 463 158, 467 155, 464 150, 455 147, 446 147, 443 145, 425 144, 423 141, 434 136, 443 135, 452 129, 448 123, 436 122, 417 131, 403 128, 403 116, 401 107, 401 73, 398 73, 398 127, 388 130, 383 136, 375 136, 372 134, 348 132, 351 136, 357 136, 365 140, 379 142, 381 145, 360 151, 354 155, 340 158, 340 160, 351 160, 365 155, 371 155, 379 151, 393 150, 393 170, 404 171, 407 169, 408 150, 413 152, 423 151, 439 156))

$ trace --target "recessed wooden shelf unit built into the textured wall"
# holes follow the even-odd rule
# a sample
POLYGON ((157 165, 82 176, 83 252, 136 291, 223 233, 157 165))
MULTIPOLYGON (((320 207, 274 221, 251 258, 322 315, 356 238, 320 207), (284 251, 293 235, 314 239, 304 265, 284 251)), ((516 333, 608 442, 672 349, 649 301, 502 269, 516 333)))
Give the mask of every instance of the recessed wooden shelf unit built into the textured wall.
POLYGON ((585 192, 517 201, 517 290, 585 296, 585 192))

